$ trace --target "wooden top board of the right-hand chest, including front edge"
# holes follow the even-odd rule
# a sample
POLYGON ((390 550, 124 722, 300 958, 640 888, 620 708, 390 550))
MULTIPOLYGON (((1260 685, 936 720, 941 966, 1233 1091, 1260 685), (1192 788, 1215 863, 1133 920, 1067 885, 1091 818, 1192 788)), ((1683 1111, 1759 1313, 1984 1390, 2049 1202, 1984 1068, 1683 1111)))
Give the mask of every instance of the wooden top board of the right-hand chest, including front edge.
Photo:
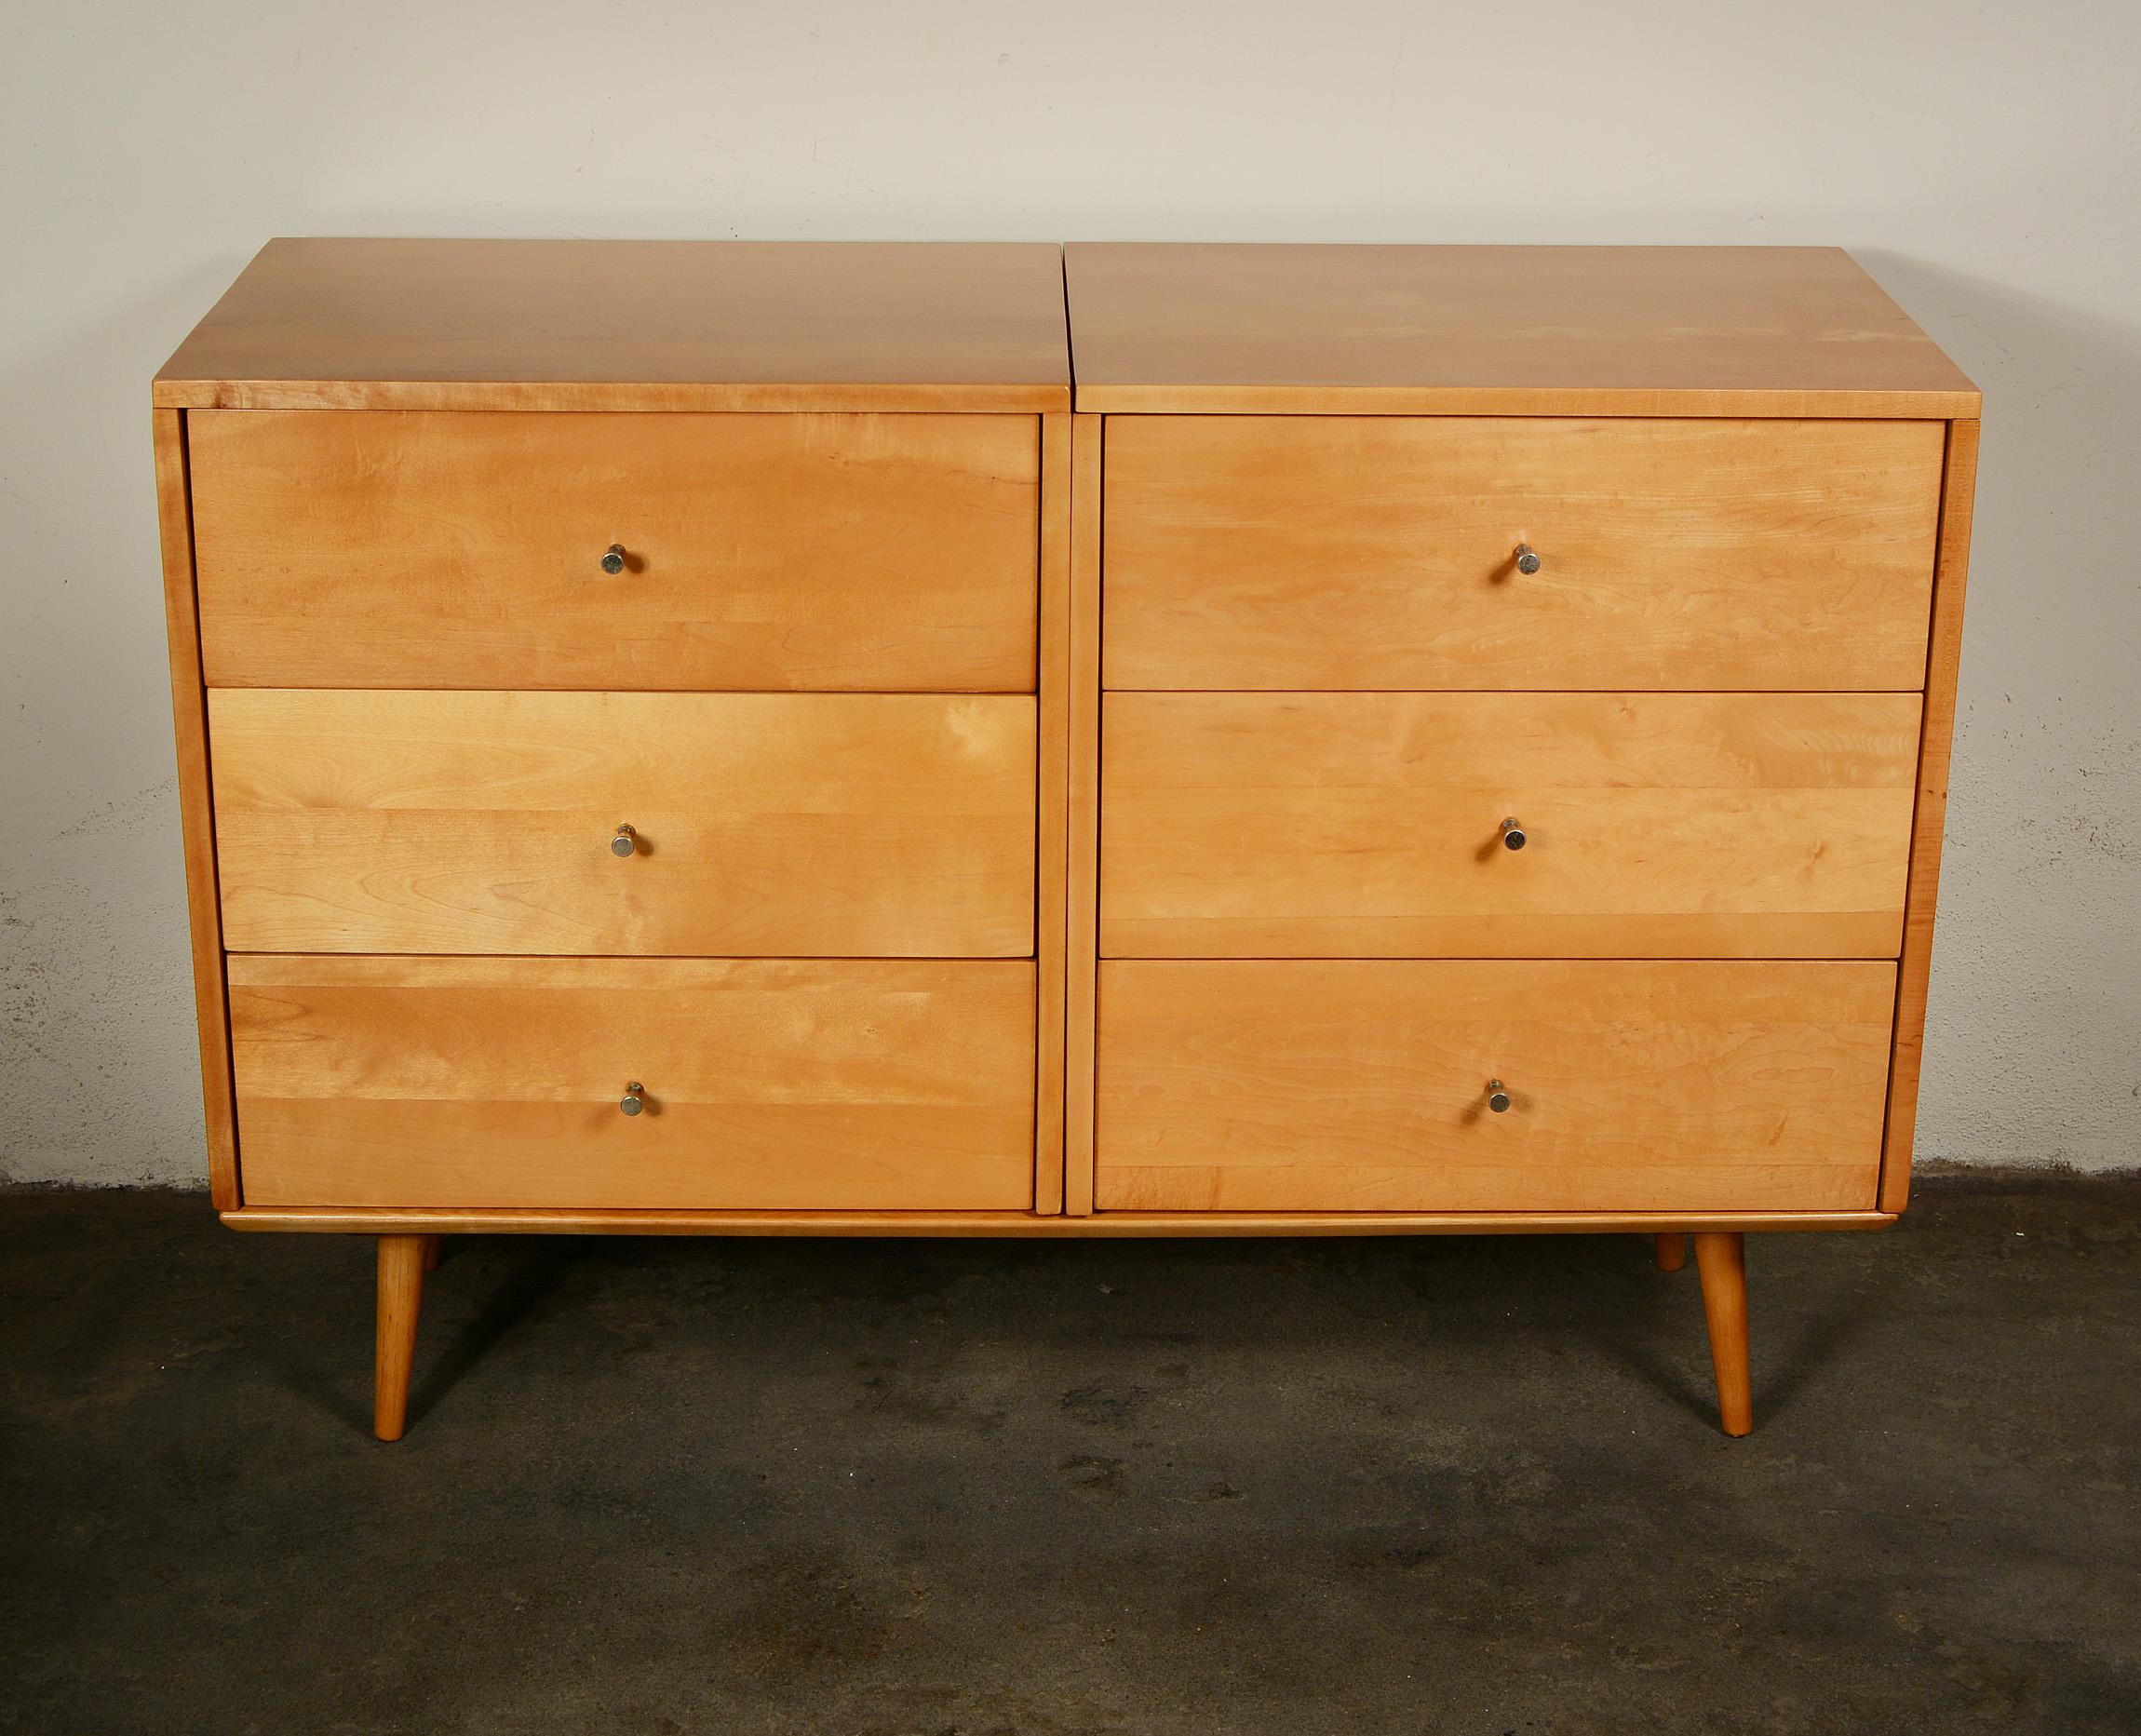
POLYGON ((1081 411, 1976 415, 1839 248, 1064 250, 1081 411))

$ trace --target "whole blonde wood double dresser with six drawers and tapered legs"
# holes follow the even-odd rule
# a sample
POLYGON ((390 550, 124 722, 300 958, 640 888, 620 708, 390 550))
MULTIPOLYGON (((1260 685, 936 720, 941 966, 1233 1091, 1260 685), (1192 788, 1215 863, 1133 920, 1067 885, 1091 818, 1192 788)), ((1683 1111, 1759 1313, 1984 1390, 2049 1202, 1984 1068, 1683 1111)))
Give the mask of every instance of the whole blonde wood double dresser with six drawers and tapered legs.
POLYGON ((383 1438, 471 1231, 1694 1231, 1738 1434, 1903 1207, 1978 394, 1841 253, 274 242, 154 405, 383 1438))

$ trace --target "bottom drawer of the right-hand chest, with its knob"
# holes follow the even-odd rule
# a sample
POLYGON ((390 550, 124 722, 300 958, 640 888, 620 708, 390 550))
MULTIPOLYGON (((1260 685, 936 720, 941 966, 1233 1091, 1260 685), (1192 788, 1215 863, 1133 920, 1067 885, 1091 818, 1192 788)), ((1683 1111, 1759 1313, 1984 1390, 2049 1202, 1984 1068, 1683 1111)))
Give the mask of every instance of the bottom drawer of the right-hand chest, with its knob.
POLYGON ((1096 1201, 1871 1209, 1893 1017, 1891 963, 1103 963, 1096 1201))

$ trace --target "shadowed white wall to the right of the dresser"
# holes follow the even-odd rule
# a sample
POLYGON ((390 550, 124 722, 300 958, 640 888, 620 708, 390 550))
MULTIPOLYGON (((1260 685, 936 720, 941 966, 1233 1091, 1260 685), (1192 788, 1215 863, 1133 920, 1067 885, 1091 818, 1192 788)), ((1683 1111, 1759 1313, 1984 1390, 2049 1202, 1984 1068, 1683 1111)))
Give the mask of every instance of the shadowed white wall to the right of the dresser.
POLYGON ((1918 1156, 2141 1164, 2141 321, 1858 257, 1985 392, 1918 1156))

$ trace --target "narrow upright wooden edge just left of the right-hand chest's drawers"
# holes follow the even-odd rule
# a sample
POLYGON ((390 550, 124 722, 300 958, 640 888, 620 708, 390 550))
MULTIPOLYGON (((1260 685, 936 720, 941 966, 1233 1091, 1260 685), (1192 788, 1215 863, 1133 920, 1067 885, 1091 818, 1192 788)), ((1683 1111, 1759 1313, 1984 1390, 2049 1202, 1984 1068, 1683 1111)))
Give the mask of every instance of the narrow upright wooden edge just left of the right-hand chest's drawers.
POLYGON ((1094 965, 1100 905, 1100 441, 1073 420, 1070 477, 1070 923, 1064 1102, 1064 1212, 1092 1212, 1094 965))

